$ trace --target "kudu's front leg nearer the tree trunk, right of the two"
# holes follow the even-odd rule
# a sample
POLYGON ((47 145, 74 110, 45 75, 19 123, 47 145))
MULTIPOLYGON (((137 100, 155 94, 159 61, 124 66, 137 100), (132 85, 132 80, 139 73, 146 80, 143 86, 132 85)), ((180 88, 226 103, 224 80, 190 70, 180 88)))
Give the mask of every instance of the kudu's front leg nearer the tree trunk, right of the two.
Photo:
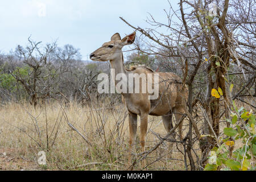
MULTIPOLYGON (((145 151, 146 134, 147 134, 147 117, 148 114, 141 114, 141 150, 145 151)), ((142 161, 142 167, 146 166, 146 159, 142 161)))

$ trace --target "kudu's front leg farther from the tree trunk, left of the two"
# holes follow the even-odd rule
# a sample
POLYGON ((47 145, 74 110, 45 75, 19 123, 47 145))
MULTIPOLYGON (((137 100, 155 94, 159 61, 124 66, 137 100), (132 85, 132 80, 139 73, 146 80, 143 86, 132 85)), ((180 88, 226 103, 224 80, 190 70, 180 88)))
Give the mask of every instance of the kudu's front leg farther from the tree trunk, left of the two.
MULTIPOLYGON (((131 163, 131 153, 133 152, 133 142, 136 138, 137 133, 137 114, 129 113, 129 130, 130 130, 130 139, 129 139, 129 156, 128 156, 128 165, 131 163)), ((133 167, 131 167, 133 169, 133 167)))

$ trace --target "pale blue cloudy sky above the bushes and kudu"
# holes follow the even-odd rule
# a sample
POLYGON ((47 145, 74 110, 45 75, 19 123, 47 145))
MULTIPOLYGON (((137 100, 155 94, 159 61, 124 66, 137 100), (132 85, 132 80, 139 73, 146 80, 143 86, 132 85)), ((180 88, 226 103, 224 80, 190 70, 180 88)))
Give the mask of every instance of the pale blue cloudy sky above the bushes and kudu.
MULTIPOLYGON (((177 0, 170 0, 174 9, 177 0)), ((27 38, 43 44, 57 40, 58 46, 72 44, 82 60, 108 42, 113 34, 133 32, 119 16, 135 27, 148 27, 148 13, 167 23, 163 9, 167 0, 9 0, 0 1, 0 52, 26 46, 27 38)))

